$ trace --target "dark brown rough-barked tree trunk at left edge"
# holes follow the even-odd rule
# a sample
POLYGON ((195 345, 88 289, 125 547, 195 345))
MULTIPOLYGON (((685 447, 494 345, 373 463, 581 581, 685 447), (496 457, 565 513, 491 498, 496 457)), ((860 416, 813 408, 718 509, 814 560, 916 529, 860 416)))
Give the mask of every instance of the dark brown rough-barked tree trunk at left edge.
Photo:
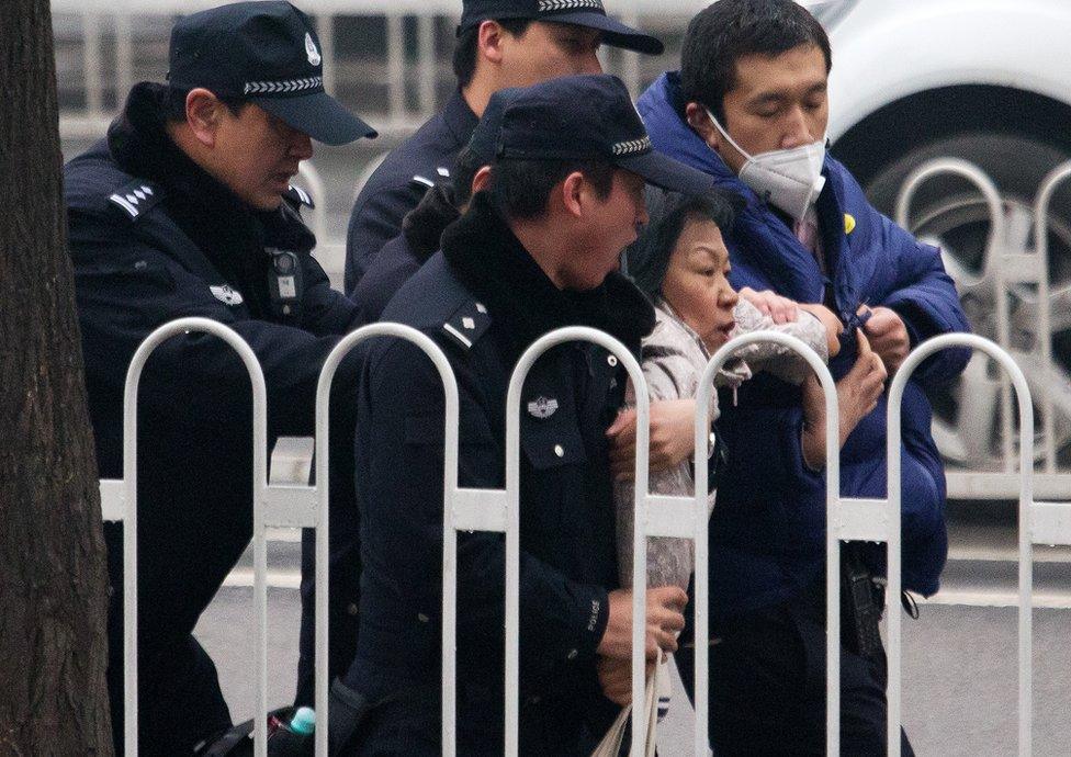
POLYGON ((0 0, 0 754, 111 755, 48 0, 0 0))

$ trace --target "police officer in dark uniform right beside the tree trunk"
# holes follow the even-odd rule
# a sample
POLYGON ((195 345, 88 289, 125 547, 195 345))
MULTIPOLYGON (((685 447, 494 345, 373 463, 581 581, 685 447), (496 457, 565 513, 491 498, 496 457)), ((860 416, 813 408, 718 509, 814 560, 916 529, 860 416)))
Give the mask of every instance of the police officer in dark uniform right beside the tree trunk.
MULTIPOLYGON (((311 138, 337 145, 374 132, 325 93, 308 18, 288 2, 189 15, 172 31, 168 79, 134 87, 106 138, 65 168, 102 477, 122 476, 126 369, 158 326, 202 316, 236 330, 263 369, 274 439, 311 436, 319 366, 357 324, 354 306, 311 256, 316 240, 298 214, 311 202, 289 182, 312 156, 311 138)), ((343 365, 340 381, 353 373, 343 365)), ((147 365, 137 502, 145 752, 188 754, 230 724, 215 668, 191 632, 250 538, 249 407, 246 371, 218 339, 177 337, 147 365)), ((350 438, 351 423, 352 410, 350 438)), ((346 436, 336 443, 352 449, 346 436)), ((121 750, 122 533, 108 524, 105 536, 109 692, 121 750)))

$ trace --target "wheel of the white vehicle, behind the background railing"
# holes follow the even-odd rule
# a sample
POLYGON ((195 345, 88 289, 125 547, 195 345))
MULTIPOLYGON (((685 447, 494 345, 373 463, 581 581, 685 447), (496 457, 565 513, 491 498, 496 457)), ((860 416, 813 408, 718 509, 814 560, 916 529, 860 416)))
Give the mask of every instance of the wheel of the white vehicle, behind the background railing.
MULTIPOLYGON (((1006 251, 1034 247, 1034 203, 1045 176, 1071 158, 1067 150, 1030 137, 993 133, 935 140, 878 169, 867 187, 875 206, 892 215, 907 174, 933 158, 956 157, 981 168, 1001 192, 1006 218, 1006 251)), ((997 341, 995 283, 988 259, 989 211, 981 194, 958 177, 935 177, 912 202, 910 230, 942 248, 945 268, 956 281, 960 301, 977 334, 997 341)), ((1040 397, 1052 393, 1058 461, 1071 462, 1071 180, 1061 185, 1049 207, 1049 281, 1052 361, 1042 364, 1039 348, 1037 287, 1015 284, 1008 297, 1010 352, 1023 369, 1034 397, 1035 456, 1044 457, 1040 397)), ((945 459, 970 470, 1003 468, 1000 381, 988 360, 976 355, 963 376, 935 394, 934 437, 945 459), (961 398, 969 413, 960 413, 961 398)), ((1013 406, 1014 407, 1014 406, 1013 406)), ((1017 451, 1017 440, 1015 449, 1017 451)))

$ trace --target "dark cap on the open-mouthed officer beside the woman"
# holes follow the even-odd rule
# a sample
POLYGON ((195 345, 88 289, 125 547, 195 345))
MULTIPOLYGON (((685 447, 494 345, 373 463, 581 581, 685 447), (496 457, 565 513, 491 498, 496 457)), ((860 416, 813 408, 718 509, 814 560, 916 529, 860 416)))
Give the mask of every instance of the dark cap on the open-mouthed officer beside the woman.
POLYGON ((703 194, 714 180, 655 151, 629 90, 605 74, 551 79, 506 105, 497 160, 605 160, 672 192, 703 194))

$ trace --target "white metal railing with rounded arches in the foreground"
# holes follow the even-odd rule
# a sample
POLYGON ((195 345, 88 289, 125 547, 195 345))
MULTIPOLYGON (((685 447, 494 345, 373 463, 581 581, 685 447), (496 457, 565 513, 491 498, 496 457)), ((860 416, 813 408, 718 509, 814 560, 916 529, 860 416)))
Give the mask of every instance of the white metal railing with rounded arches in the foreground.
MULTIPOLYGON (((706 487, 697 484, 692 497, 651 495, 647 486, 650 405, 642 369, 632 354, 612 337, 585 327, 570 327, 551 332, 522 355, 515 369, 507 394, 506 426, 506 488, 465 489, 458 486, 459 462, 459 399, 456 380, 449 361, 427 336, 398 324, 377 324, 364 327, 346 337, 330 353, 320 373, 316 399, 316 488, 304 486, 272 486, 267 478, 267 411, 263 376, 256 355, 232 329, 204 318, 185 318, 167 324, 154 331, 132 360, 125 389, 124 462, 122 482, 101 482, 105 519, 124 521, 124 609, 125 637, 125 739, 127 754, 137 754, 137 414, 136 400, 142 369, 161 342, 172 337, 201 331, 227 341, 241 358, 252 382, 253 404, 253 544, 255 601, 257 605, 257 711, 255 714, 256 753, 264 755, 267 702, 267 547, 269 527, 316 528, 316 710, 322 713, 316 735, 316 754, 327 754, 328 702, 328 407, 336 370, 346 355, 359 343, 376 337, 396 337, 412 341, 435 363, 444 387, 444 467, 443 467, 443 628, 442 628, 442 749, 455 754, 456 704, 456 550, 460 531, 503 533, 506 540, 506 634, 505 752, 518 753, 519 691, 519 558, 520 558, 520 402, 523 383, 534 362, 551 348, 570 342, 587 341, 607 349, 625 368, 636 389, 636 459, 633 542, 633 659, 632 693, 634 702, 645 701, 645 540, 653 536, 691 539, 696 546, 696 608, 697 639, 709 636, 709 545, 707 542, 708 504, 706 487)), ((1031 697, 1031 592, 1033 545, 1071 545, 1071 502, 1035 501, 1033 444, 1034 414, 1029 386, 1023 371, 1012 357, 992 341, 973 335, 946 335, 931 339, 911 352, 897 372, 888 400, 888 497, 857 499, 843 497, 839 492, 839 444, 836 387, 828 369, 821 359, 798 339, 777 332, 755 332, 739 337, 723 346, 707 364, 696 398, 697 408, 709 407, 713 377, 721 366, 740 349, 758 342, 774 342, 799 353, 815 371, 825 395, 826 411, 826 733, 827 754, 839 754, 839 543, 868 541, 884 543, 888 554, 887 631, 888 631, 888 749, 899 749, 901 721, 901 615, 899 597, 901 580, 901 405, 904 389, 917 366, 934 353, 954 347, 968 347, 995 361, 1011 376, 1018 404, 1019 468, 1001 475, 1006 486, 1018 494, 1018 743, 1019 754, 1028 755, 1033 734, 1031 697), (1013 481, 1014 479, 1014 481, 1013 481)), ((695 479, 708 481, 709 425, 707 414, 697 413, 695 426, 695 479)), ((696 724, 695 749, 704 755, 709 748, 708 686, 709 647, 696 644, 695 662, 696 724)), ((642 755, 646 742, 646 721, 634 719, 632 748, 642 755)))

